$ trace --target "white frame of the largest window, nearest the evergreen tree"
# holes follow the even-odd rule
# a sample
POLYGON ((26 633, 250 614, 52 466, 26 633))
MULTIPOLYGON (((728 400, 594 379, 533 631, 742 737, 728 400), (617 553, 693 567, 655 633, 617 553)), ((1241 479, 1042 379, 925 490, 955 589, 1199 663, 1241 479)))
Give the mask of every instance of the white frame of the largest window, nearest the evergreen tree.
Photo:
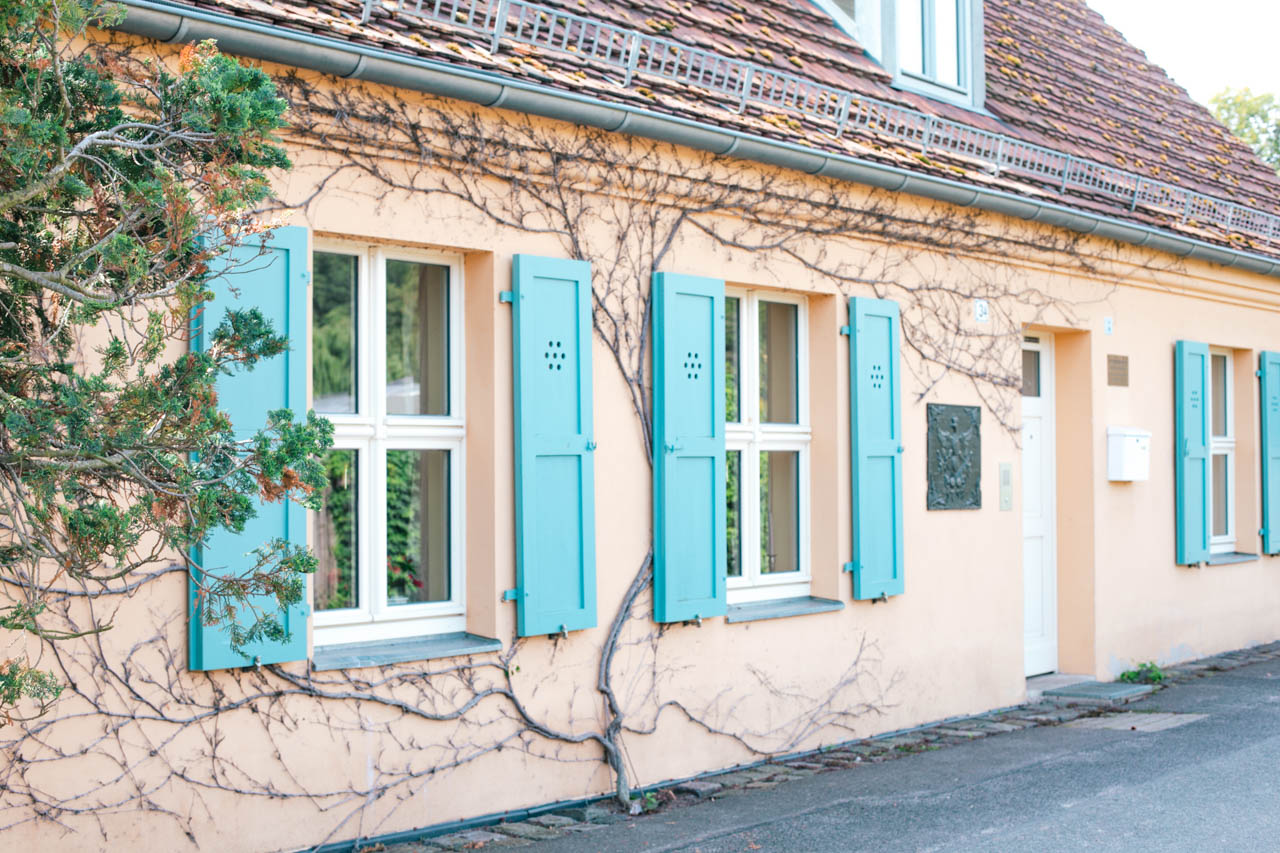
MULTIPOLYGON (((399 639, 466 630, 466 375, 462 256, 451 252, 315 240, 315 252, 355 255, 357 414, 324 415, 334 450, 357 451, 356 581, 358 607, 312 611, 315 646, 399 639), (436 264, 449 270, 449 414, 387 414, 387 261, 436 264), (376 365, 376 368, 375 368, 376 365), (447 450, 449 455, 449 599, 389 606, 387 566, 387 452, 447 450), (381 567, 383 574, 375 573, 381 567)), ((311 300, 307 300, 311 311, 311 300)), ((308 382, 310 387, 310 382, 308 382)), ((310 391, 308 391, 310 393, 310 391)), ((314 530, 312 520, 311 530, 314 530)), ((308 590, 310 596, 310 590, 308 590)), ((308 601, 310 597, 308 597, 308 601)))

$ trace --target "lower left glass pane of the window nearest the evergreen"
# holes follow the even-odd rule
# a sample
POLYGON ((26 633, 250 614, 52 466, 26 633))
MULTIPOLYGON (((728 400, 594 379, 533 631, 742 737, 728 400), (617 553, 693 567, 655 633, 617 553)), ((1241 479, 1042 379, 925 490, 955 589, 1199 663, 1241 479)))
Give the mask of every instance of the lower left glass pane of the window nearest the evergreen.
POLYGON ((325 456, 328 484, 324 508, 316 514, 316 571, 312 601, 316 610, 360 606, 356 583, 358 555, 356 534, 356 451, 329 451, 325 456))

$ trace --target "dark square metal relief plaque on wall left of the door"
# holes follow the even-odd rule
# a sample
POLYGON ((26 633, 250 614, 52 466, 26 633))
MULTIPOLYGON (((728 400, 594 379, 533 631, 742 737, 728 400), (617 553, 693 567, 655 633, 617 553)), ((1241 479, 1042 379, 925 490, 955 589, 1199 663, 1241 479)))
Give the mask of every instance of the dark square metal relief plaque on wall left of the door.
POLYGON ((931 510, 982 507, 982 411, 977 406, 928 405, 931 510))

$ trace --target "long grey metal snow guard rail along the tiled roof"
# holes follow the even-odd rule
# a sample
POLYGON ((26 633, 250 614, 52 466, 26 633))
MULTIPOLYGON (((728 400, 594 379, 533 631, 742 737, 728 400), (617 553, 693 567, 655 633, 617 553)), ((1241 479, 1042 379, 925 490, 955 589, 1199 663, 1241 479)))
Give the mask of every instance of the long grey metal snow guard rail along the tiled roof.
MULTIPOLYGON (((361 23, 383 1, 364 0, 361 23)), ((792 110, 829 124, 836 137, 850 127, 867 129, 916 145, 924 154, 946 151, 974 160, 992 174, 1023 174, 1057 186, 1064 193, 1091 192, 1126 204, 1130 210, 1139 205, 1157 210, 1184 225, 1212 224, 1268 243, 1280 240, 1280 216, 1262 210, 552 6, 525 0, 387 1, 394 3, 393 14, 486 33, 490 53, 497 53, 506 38, 572 54, 618 69, 625 87, 636 74, 699 86, 736 101, 739 113, 749 104, 792 110)))

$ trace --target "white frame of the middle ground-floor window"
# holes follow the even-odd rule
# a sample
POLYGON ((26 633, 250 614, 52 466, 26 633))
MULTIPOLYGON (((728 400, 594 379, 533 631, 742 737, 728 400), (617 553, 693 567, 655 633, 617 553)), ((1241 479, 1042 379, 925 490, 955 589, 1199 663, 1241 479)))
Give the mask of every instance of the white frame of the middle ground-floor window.
POLYGON ((728 578, 730 605, 746 605, 778 598, 808 596, 813 575, 809 562, 809 318, 804 297, 777 291, 726 288, 727 297, 739 300, 739 418, 724 425, 726 452, 740 451, 739 530, 741 532, 742 574, 728 578), (796 306, 796 414, 797 424, 760 423, 760 341, 759 304, 777 302, 796 306), (760 453, 763 451, 799 452, 799 571, 767 575, 760 571, 760 453))

